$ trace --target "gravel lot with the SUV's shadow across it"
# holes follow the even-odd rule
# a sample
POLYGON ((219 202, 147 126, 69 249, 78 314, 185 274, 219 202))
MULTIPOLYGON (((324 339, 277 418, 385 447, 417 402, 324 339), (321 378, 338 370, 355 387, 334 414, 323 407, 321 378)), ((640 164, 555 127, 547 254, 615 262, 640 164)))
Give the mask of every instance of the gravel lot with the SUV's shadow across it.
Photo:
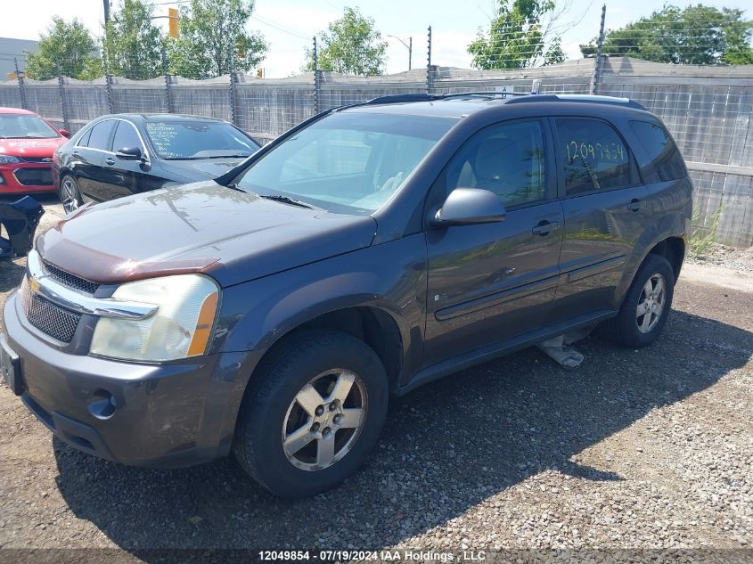
MULTIPOLYGON (((60 216, 48 208, 47 225, 60 216)), ((753 260, 733 255, 686 266, 653 347, 593 337, 573 372, 529 349, 397 399, 364 469, 301 502, 267 495, 232 460, 158 471, 79 454, 2 385, 0 560, 28 547, 154 562, 143 549, 753 560, 753 260)), ((22 264, 0 264, 3 299, 22 264)))

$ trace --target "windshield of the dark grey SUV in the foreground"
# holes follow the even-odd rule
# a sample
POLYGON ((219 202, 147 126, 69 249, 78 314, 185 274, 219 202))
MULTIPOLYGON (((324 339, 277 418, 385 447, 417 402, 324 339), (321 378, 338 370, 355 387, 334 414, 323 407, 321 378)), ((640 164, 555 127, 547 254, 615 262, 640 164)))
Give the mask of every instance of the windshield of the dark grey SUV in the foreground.
POLYGON ((328 211, 372 214, 397 192, 456 119, 334 113, 274 147, 237 186, 328 211))

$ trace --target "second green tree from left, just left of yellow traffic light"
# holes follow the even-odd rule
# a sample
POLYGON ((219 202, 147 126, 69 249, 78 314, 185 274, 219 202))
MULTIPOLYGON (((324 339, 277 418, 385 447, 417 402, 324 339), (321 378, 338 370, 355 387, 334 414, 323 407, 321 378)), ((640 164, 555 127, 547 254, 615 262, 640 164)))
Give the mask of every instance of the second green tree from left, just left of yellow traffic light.
POLYGON ((161 74, 161 38, 151 20, 154 6, 124 0, 104 29, 104 56, 110 74, 124 78, 154 78, 161 74))

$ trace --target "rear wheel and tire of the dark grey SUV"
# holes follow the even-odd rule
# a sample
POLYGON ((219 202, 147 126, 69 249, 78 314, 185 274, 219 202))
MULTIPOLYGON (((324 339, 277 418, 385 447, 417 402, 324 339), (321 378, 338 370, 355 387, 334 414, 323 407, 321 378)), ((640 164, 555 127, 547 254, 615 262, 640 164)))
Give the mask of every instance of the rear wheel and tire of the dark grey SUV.
POLYGON ((638 268, 618 315, 603 324, 606 336, 626 347, 651 345, 659 339, 667 323, 674 293, 675 273, 672 266, 665 257, 649 255, 638 268), (662 291, 657 290, 659 284, 663 285, 662 291), (649 311, 641 315, 646 309, 649 311))

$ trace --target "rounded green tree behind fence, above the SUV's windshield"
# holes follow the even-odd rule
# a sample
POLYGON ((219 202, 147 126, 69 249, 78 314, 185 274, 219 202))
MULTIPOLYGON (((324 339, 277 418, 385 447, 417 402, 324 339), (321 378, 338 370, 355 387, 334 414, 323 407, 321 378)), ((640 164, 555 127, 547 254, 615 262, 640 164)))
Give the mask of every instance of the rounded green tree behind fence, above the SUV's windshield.
MULTIPOLYGON (((387 42, 374 28, 372 18, 358 8, 346 7, 339 20, 330 23, 319 36, 319 69, 368 77, 384 72, 387 42)), ((304 70, 314 70, 314 53, 306 51, 304 70)))

